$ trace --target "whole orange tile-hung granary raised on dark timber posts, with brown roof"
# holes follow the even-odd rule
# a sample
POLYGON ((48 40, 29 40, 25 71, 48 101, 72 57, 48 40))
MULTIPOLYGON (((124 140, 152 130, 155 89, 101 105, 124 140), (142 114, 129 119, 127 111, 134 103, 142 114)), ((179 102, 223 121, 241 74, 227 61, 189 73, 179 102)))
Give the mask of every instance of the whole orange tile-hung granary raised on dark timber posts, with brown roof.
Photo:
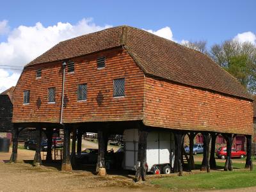
MULTIPOLYGON (((252 141, 253 99, 234 77, 201 52, 129 26, 55 45, 24 67, 14 96, 13 136, 17 137, 24 127, 35 127, 40 140, 42 128, 50 135, 53 127, 63 129, 63 170, 71 168, 71 131, 77 133, 78 143, 81 132, 98 133, 97 168, 104 168, 108 135, 138 129, 140 166, 136 172, 141 177, 146 161, 145 140, 152 130, 173 133, 175 172, 182 171, 185 134, 191 143, 196 133, 204 135, 202 169, 207 170, 211 137, 225 136, 228 149, 234 134, 246 136, 248 150, 252 141)), ((40 164, 38 151, 39 147, 35 163, 40 164)), ((16 157, 13 143, 11 161, 16 157)), ((228 162, 230 158, 227 169, 232 170, 228 162)), ((214 167, 211 158, 210 164, 214 167)))

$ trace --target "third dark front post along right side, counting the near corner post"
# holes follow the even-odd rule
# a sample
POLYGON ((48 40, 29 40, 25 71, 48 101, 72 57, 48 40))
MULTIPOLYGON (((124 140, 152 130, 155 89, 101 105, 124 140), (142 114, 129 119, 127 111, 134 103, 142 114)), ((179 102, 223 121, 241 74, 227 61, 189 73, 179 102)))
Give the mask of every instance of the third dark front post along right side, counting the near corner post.
POLYGON ((209 144, 211 137, 208 132, 203 133, 204 136, 204 157, 201 165, 201 171, 207 170, 207 172, 210 172, 210 165, 209 165, 209 144))

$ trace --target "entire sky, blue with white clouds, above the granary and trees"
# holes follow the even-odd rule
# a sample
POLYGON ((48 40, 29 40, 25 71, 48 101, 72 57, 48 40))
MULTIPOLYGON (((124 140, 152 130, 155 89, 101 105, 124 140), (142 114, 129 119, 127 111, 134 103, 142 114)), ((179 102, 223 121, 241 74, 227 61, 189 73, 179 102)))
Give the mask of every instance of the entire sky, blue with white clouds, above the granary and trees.
POLYGON ((256 44, 256 1, 1 1, 0 92, 22 67, 61 40, 111 26, 146 29, 208 46, 238 38, 256 44), (14 65, 16 68, 3 66, 14 65))

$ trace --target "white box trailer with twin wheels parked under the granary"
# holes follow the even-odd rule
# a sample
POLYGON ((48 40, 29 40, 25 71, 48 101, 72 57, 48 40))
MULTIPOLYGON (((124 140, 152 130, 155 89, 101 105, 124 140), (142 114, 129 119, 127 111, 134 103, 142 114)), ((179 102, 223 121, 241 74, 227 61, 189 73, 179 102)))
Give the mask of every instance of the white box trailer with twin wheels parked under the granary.
MULTIPOLYGON (((138 129, 124 131, 124 169, 135 170, 138 129)), ((147 136, 147 172, 171 173, 174 164, 174 136, 170 131, 150 131, 147 136)))

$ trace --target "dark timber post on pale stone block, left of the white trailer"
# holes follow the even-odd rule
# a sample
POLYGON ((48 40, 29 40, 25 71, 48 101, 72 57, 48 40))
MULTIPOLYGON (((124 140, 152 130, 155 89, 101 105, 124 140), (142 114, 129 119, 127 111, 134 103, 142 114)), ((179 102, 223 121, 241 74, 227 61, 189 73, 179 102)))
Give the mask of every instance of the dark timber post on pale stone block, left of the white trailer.
POLYGON ((102 127, 100 127, 98 130, 99 152, 96 166, 96 172, 98 172, 99 175, 106 175, 105 152, 108 147, 108 145, 106 145, 106 140, 108 140, 108 132, 106 129, 102 129, 102 127))

